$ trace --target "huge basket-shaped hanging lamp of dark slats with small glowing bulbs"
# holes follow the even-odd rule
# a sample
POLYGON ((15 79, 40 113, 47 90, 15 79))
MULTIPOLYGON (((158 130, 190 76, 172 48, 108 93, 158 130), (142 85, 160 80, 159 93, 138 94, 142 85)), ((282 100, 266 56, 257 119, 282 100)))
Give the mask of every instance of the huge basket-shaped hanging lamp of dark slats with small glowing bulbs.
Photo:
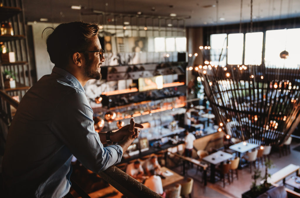
POLYGON ((198 70, 220 127, 239 141, 283 144, 300 121, 299 69, 240 67, 198 70))

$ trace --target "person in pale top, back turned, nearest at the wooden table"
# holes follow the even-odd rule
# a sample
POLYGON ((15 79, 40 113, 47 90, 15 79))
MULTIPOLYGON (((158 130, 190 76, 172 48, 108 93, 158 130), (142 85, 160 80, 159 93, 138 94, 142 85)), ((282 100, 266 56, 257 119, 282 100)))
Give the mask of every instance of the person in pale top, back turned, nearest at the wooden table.
POLYGON ((166 197, 166 193, 163 190, 163 184, 161 182, 161 177, 155 175, 155 170, 152 169, 149 171, 149 178, 146 179, 144 185, 158 193, 159 195, 166 197))

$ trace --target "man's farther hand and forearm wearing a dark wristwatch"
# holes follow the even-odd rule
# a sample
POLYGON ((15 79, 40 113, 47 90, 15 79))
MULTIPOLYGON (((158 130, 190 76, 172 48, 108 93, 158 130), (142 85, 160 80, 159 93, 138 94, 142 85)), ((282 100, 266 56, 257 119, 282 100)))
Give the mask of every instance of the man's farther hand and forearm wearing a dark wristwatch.
POLYGON ((123 126, 121 129, 117 130, 115 133, 110 134, 110 139, 112 142, 120 142, 127 138, 127 136, 133 136, 135 139, 139 136, 140 130, 137 128, 144 128, 143 125, 135 123, 134 119, 130 119, 130 124, 123 126))

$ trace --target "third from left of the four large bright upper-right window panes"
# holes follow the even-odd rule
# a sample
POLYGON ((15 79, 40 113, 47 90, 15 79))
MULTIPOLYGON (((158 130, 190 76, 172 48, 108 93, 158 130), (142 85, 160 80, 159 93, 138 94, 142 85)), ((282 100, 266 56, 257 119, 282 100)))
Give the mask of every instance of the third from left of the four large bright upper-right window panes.
POLYGON ((245 39, 245 65, 261 65, 263 33, 246 33, 245 39))

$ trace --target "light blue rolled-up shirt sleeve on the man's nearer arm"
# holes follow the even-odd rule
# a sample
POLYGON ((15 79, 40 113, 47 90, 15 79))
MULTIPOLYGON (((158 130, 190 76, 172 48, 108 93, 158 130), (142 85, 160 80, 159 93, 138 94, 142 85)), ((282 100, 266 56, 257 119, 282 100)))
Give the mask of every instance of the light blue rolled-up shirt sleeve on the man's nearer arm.
POLYGON ((83 166, 101 172, 119 163, 123 150, 120 145, 103 147, 95 132, 93 110, 81 90, 72 90, 55 108, 51 127, 83 166))

